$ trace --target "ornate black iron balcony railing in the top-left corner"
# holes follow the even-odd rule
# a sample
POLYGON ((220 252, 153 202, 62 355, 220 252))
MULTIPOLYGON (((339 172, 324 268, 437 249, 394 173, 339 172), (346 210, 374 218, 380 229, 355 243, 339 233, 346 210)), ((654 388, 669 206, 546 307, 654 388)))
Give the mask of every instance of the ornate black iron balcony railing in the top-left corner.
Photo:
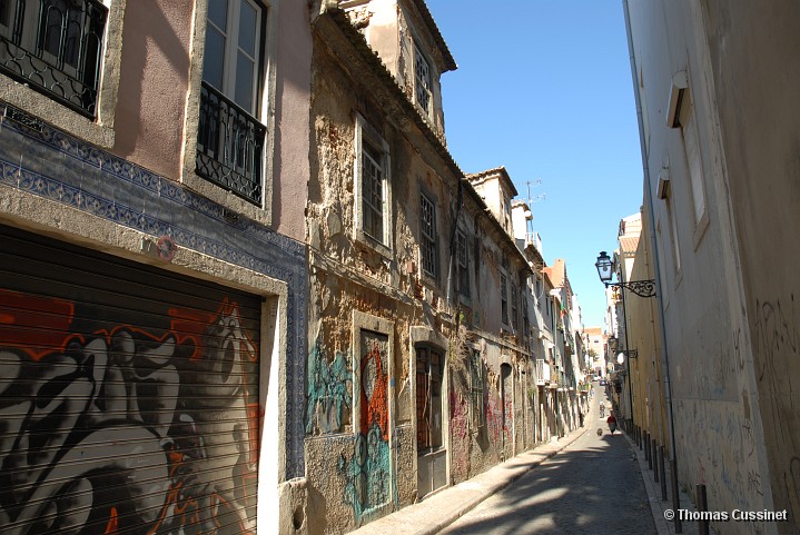
POLYGON ((107 17, 98 0, 0 0, 0 72, 93 118, 107 17))

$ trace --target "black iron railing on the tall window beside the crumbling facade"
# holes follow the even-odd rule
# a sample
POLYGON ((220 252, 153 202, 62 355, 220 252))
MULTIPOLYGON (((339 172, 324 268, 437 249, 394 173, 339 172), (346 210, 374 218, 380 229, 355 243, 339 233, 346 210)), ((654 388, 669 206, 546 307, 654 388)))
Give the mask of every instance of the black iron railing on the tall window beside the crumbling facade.
POLYGON ((203 82, 195 169, 201 177, 261 205, 261 168, 267 128, 203 82))

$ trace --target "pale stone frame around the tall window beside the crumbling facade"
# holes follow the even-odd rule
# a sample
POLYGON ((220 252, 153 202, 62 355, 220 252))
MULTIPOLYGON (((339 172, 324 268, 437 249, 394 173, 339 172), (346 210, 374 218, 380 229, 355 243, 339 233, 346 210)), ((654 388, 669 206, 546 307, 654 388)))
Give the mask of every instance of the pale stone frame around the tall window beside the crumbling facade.
POLYGON ((200 123, 200 93, 203 85, 203 58, 206 46, 206 20, 208 13, 208 0, 196 0, 194 36, 191 39, 190 68, 189 68, 189 95, 186 99, 185 136, 184 136, 184 166, 182 182, 200 195, 209 198, 225 208, 228 208, 245 217, 249 217, 261 225, 273 222, 273 181, 275 158, 275 95, 276 95, 276 59, 277 59, 277 36, 280 0, 259 0, 261 17, 266 17, 266 34, 261 38, 263 63, 260 70, 259 95, 260 107, 255 118, 267 129, 267 136, 263 148, 261 168, 261 205, 231 195, 225 188, 214 184, 195 172, 195 158, 197 156, 197 130, 200 123))

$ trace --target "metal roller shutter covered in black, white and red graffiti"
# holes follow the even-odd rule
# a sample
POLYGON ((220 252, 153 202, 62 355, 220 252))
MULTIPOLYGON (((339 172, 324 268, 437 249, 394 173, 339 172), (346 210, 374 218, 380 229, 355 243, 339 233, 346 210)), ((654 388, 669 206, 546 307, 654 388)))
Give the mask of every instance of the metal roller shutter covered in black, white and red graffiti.
POLYGON ((0 531, 255 534, 260 299, 0 226, 0 531))

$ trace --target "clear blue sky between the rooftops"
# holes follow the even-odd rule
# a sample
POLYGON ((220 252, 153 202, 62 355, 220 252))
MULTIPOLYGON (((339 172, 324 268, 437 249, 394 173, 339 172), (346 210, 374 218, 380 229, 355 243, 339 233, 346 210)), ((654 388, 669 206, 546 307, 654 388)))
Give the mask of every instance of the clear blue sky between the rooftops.
POLYGON ((594 268, 642 204, 622 0, 427 0, 458 69, 442 76, 447 147, 465 172, 505 166, 532 205, 545 261, 566 260, 586 327, 594 268))

